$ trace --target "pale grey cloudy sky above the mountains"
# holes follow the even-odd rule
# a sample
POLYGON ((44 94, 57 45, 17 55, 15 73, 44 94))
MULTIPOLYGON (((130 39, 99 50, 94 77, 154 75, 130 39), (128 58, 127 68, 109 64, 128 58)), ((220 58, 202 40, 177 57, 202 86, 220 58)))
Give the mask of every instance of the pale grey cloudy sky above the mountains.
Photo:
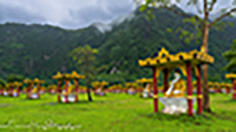
MULTIPOLYGON (((136 8, 134 0, 0 0, 0 23, 51 24, 67 29, 108 23, 136 8)), ((217 7, 229 4, 219 0, 217 7)), ((182 4, 181 6, 183 6, 182 4)), ((196 12, 191 7, 186 11, 196 12)))

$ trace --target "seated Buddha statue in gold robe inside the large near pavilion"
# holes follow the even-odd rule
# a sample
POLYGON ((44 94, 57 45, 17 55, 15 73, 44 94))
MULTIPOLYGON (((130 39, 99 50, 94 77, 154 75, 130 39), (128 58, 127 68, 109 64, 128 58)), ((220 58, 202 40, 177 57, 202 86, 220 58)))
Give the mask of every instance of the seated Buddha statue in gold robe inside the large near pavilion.
POLYGON ((167 98, 181 98, 185 95, 186 83, 181 79, 180 70, 175 70, 174 80, 171 82, 169 89, 165 93, 167 98))

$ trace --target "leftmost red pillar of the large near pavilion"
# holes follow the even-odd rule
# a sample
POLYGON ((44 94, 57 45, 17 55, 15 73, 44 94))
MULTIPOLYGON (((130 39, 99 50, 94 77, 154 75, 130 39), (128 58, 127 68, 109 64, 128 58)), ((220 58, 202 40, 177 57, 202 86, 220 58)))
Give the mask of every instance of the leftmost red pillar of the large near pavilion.
POLYGON ((154 113, 157 113, 158 112, 158 89, 157 89, 156 67, 153 67, 153 103, 154 103, 154 113))

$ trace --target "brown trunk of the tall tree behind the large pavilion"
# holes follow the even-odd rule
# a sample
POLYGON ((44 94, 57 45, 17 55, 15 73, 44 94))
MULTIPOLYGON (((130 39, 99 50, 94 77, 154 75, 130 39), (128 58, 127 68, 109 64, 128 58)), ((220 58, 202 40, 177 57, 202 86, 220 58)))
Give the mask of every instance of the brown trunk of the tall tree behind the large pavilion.
MULTIPOLYGON (((205 48, 205 53, 208 53, 208 37, 209 37, 209 25, 205 24, 203 31, 203 46, 205 48)), ((210 97, 209 97, 209 89, 207 86, 208 82, 208 65, 203 66, 203 109, 205 111, 210 112, 210 97)))

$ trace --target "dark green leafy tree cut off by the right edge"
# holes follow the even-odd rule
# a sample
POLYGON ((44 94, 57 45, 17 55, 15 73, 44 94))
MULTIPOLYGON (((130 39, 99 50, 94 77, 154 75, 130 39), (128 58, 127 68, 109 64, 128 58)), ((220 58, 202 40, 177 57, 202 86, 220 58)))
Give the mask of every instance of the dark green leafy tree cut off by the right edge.
POLYGON ((229 63, 225 66, 225 70, 236 73, 236 39, 231 45, 231 49, 226 51, 223 56, 229 63))

